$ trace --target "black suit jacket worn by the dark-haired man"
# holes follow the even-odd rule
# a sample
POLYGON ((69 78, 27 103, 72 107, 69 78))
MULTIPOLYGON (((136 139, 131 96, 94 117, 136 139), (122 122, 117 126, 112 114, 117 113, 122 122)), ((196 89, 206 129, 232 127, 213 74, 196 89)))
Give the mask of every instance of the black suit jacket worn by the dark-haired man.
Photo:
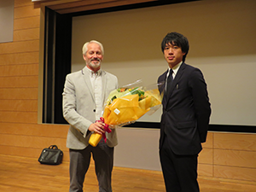
MULTIPOLYGON (((159 88, 165 91, 166 74, 160 75, 159 88)), ((179 67, 173 79, 171 94, 163 96, 163 113, 160 122, 160 148, 164 136, 175 154, 199 154, 201 143, 207 140, 211 114, 207 84, 201 70, 185 64, 179 67)))

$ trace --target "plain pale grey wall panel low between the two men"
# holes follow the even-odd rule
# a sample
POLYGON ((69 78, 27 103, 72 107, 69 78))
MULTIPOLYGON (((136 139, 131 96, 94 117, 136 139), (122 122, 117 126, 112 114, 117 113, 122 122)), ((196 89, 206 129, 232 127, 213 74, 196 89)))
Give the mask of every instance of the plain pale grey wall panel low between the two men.
POLYGON ((114 166, 160 171, 159 129, 119 128, 114 166))

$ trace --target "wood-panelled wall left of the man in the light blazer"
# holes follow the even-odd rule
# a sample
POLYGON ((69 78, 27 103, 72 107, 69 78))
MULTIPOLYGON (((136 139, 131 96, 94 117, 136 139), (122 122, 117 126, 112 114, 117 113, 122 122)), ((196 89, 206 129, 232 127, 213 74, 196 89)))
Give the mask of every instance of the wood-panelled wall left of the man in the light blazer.
POLYGON ((44 128, 37 125, 39 15, 30 0, 15 0, 14 42, 0 44, 0 154, 38 157, 65 140, 40 136, 44 128))

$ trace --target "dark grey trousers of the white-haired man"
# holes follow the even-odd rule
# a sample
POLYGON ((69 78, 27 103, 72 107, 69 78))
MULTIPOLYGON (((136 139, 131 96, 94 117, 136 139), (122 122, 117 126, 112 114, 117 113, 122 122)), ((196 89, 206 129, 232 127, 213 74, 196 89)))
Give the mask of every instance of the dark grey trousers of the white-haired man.
POLYGON ((101 141, 96 147, 89 145, 83 150, 69 149, 69 192, 83 192, 84 177, 90 166, 91 154, 95 160, 99 192, 112 192, 113 148, 109 148, 104 141, 101 141))

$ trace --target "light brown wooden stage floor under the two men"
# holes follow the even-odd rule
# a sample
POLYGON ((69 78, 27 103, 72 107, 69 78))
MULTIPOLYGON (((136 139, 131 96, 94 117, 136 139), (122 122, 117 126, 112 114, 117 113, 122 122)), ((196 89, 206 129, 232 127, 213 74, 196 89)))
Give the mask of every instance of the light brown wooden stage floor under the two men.
MULTIPOLYGON (((68 163, 46 166, 35 158, 0 154, 1 192, 67 192, 68 163)), ((256 183, 228 179, 199 177, 201 192, 255 192, 256 183)), ((113 168, 113 192, 164 192, 161 172, 123 167, 113 168)), ((84 192, 97 192, 94 166, 86 175, 84 192)))

